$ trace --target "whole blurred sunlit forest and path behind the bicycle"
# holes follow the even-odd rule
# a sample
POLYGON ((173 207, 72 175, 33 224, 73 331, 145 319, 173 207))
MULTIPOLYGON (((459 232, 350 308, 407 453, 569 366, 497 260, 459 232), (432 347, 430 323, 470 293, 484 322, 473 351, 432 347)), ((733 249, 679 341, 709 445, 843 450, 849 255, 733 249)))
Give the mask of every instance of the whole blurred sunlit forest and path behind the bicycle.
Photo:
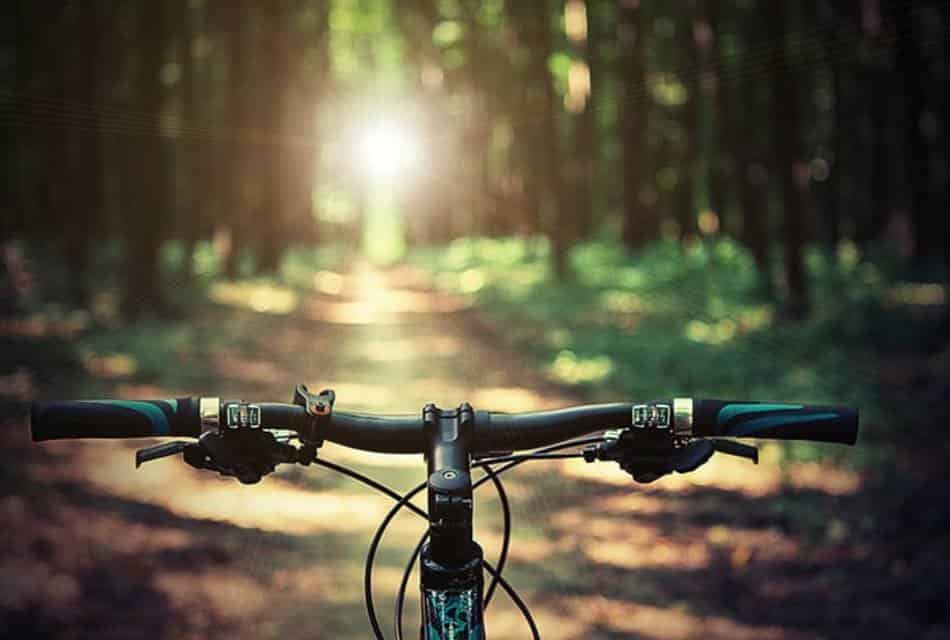
MULTIPOLYGON (((526 465, 510 579, 550 640, 950 638, 950 2, 0 12, 0 636, 369 637, 385 497, 29 440, 36 398, 305 382, 378 412, 859 406, 857 447, 758 467, 526 465)), ((387 627, 420 533, 385 541, 387 627)), ((503 597, 487 628, 528 637, 503 597)))

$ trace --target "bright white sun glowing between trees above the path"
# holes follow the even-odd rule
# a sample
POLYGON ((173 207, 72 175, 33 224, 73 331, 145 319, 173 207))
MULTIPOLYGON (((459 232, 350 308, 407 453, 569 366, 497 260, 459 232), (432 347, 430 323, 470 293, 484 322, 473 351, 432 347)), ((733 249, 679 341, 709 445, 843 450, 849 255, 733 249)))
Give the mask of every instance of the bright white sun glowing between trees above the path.
POLYGON ((412 127, 379 121, 367 126, 357 138, 360 168, 374 180, 396 180, 419 171, 422 151, 412 127))

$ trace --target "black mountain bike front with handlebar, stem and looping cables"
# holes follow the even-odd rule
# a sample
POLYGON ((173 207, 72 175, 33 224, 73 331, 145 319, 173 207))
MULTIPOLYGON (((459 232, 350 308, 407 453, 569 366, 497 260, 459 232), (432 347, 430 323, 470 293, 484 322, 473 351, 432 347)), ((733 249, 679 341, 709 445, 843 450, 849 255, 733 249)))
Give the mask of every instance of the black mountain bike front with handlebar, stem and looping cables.
POLYGON ((373 598, 374 561, 383 534, 402 509, 424 518, 428 527, 403 573, 393 637, 403 638, 406 590, 418 561, 422 640, 485 640, 484 612, 497 587, 508 594, 538 640, 541 636, 527 605, 503 576, 511 510, 499 478, 502 473, 529 460, 583 458, 589 463, 616 462, 635 481, 646 483, 673 472, 694 471, 716 452, 758 463, 754 446, 724 438, 853 445, 858 435, 856 409, 795 403, 673 398, 523 414, 476 411, 468 403, 452 410, 429 404, 419 416, 373 416, 334 411, 335 400, 329 389, 314 394, 298 385, 290 404, 216 397, 35 402, 30 416, 34 441, 195 439, 142 449, 136 453, 136 467, 181 454, 191 466, 253 484, 279 464, 316 464, 392 498, 395 505, 373 536, 364 571, 366 611, 377 640, 384 640, 384 635, 373 598), (591 435, 607 427, 611 429, 591 435), (427 480, 400 495, 357 471, 320 458, 325 441, 391 454, 423 453, 427 480), (517 453, 522 451, 527 453, 517 453), (484 472, 474 481, 473 469, 484 472), (484 559, 472 532, 474 492, 488 482, 498 493, 503 518, 501 552, 494 565, 484 559), (423 490, 427 509, 411 502, 423 490), (487 590, 483 571, 491 577, 487 590))

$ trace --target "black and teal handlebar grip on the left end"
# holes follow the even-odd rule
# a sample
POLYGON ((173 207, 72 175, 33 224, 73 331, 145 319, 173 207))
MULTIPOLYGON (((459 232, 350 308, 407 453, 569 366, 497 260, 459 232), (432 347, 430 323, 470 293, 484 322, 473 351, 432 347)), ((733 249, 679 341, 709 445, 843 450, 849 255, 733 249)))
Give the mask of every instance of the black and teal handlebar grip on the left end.
POLYGON ((198 398, 71 400, 30 406, 34 441, 66 438, 197 437, 198 398))

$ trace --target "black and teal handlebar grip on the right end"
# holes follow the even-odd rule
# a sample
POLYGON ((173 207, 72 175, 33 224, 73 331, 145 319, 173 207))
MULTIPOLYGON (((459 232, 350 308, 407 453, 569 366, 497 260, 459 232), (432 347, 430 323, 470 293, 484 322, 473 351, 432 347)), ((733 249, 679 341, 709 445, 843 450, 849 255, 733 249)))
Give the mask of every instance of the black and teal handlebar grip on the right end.
POLYGON ((794 403, 693 401, 693 434, 854 444, 858 410, 794 403))

